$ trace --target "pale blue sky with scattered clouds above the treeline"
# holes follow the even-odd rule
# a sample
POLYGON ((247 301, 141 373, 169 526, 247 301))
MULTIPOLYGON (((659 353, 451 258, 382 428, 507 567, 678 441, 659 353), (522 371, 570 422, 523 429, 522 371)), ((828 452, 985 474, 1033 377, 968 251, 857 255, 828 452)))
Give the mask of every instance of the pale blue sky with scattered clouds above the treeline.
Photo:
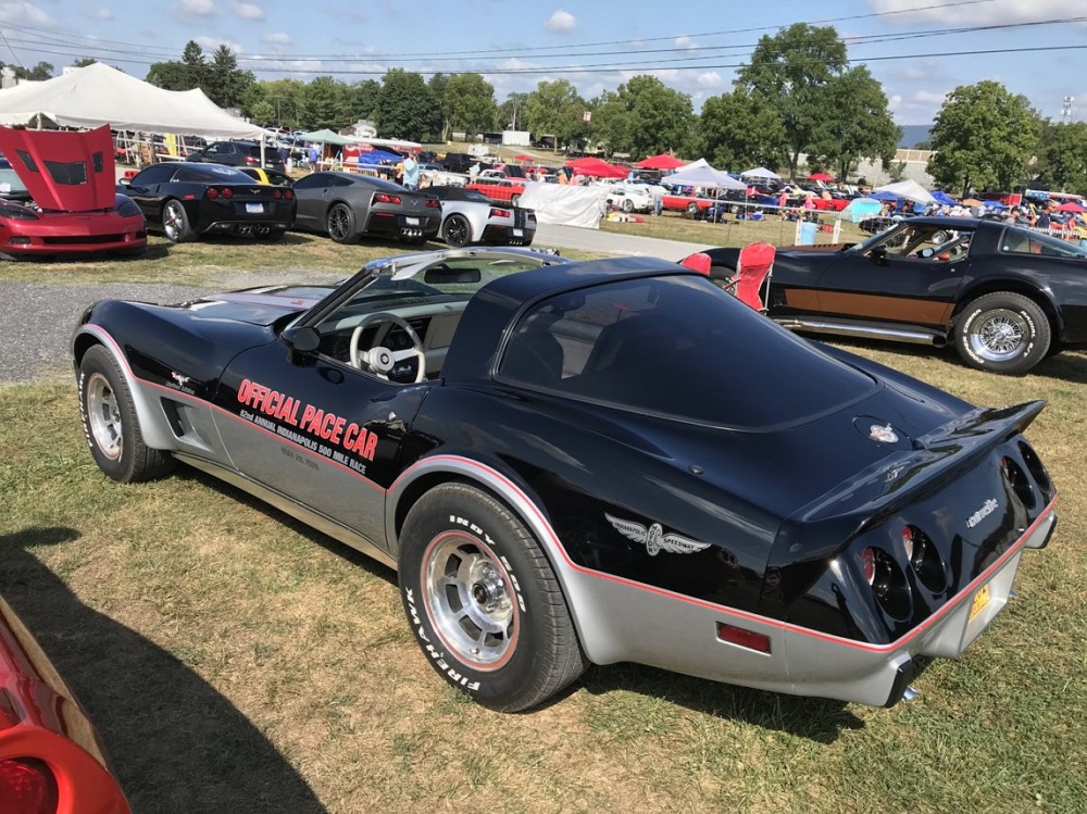
POLYGON ((732 89, 760 36, 796 22, 834 25, 899 124, 929 123, 947 92, 982 79, 1054 120, 1065 97, 1071 118, 1087 115, 1083 0, 0 0, 0 60, 60 72, 95 57, 143 77, 196 40, 229 46, 259 79, 475 71, 502 101, 558 78, 590 99, 648 73, 698 110, 732 89), (948 52, 966 53, 934 55, 948 52))

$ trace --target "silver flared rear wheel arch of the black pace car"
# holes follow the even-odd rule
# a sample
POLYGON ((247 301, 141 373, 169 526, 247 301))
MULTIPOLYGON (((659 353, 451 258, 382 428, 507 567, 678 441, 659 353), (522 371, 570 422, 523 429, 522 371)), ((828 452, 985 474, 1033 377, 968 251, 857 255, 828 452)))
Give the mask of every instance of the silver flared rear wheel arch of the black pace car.
POLYGON ((562 549, 542 501, 515 473, 454 454, 437 454, 412 464, 388 491, 386 535, 391 555, 399 559, 400 531, 411 508, 430 489, 450 483, 486 492, 532 531, 559 580, 586 658, 597 664, 616 661, 607 619, 592 613, 591 593, 562 549))

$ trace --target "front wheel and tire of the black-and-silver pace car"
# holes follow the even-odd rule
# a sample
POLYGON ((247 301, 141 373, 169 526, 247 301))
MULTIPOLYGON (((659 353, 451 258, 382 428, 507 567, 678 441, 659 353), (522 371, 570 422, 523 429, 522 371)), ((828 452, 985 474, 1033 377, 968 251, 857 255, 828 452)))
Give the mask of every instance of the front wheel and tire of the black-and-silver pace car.
POLYGON ((88 349, 79 363, 79 413, 95 463, 114 480, 135 484, 173 471, 173 458, 143 442, 128 385, 100 345, 88 349))

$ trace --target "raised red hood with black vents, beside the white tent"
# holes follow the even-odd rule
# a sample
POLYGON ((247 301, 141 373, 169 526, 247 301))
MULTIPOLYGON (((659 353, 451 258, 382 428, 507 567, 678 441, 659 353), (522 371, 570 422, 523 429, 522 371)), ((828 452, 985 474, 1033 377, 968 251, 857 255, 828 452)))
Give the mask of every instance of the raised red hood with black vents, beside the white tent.
POLYGON ((83 133, 0 127, 0 152, 41 209, 113 206, 116 171, 109 125, 83 133))

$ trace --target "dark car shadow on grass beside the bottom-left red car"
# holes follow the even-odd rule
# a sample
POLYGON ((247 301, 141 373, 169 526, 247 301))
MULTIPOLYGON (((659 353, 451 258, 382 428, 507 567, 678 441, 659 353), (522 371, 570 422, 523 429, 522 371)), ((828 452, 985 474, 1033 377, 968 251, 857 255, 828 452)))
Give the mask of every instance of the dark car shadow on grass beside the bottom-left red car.
POLYGON ((27 549, 72 528, 0 535, 0 596, 93 721, 134 812, 324 812, 233 703, 158 644, 83 604, 27 549))

